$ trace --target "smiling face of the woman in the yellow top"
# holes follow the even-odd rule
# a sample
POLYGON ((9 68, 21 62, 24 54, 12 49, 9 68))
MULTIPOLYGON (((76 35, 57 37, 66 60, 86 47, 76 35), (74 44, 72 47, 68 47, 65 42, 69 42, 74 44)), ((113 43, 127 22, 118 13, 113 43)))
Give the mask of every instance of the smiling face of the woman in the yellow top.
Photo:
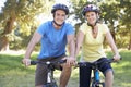
POLYGON ((87 23, 91 25, 94 25, 97 21, 97 13, 96 12, 86 12, 85 17, 87 20, 87 23))

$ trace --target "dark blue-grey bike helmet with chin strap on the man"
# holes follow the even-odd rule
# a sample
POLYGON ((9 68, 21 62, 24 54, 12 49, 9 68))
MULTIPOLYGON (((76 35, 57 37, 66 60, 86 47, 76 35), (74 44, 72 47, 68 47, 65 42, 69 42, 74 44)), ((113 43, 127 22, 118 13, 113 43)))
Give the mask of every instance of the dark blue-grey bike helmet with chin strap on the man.
MULTIPOLYGON (((63 10, 63 11, 66 12, 66 15, 69 14, 69 9, 68 9, 68 7, 64 5, 64 4, 58 3, 58 4, 55 4, 55 5, 52 7, 52 10, 51 10, 51 13, 53 14, 53 17, 55 17, 55 12, 56 12, 57 10, 63 10)), ((58 26, 62 26, 62 25, 63 25, 63 24, 58 24, 58 23, 55 22, 55 21, 53 21, 53 23, 55 23, 56 25, 58 25, 58 26)))

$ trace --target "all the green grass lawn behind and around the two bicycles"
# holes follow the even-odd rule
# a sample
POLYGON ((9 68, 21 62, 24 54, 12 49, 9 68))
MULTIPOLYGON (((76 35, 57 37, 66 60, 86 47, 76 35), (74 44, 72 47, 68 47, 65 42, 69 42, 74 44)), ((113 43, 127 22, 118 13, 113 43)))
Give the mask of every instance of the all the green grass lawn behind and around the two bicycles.
MULTIPOLYGON (((23 53, 0 53, 0 87, 34 87, 35 66, 25 67, 21 60, 23 53), (15 54, 14 54, 15 53, 15 54)), ((114 87, 131 87, 131 51, 120 51, 122 61, 112 64, 115 71, 114 87)), ((111 57, 111 52, 107 52, 111 57)), ((36 53, 33 54, 33 59, 36 53)), ((55 77, 59 80, 60 72, 55 72, 55 77)), ((79 87, 79 70, 74 69, 68 87, 79 87)))

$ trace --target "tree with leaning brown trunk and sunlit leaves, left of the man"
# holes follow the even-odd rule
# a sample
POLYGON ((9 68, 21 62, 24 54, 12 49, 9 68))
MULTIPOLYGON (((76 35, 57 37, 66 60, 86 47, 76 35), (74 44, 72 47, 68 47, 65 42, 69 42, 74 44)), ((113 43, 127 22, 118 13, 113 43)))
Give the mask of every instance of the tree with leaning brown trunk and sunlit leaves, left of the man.
POLYGON ((21 33, 31 34, 34 26, 34 16, 43 12, 48 12, 53 1, 50 0, 7 0, 0 13, 0 51, 9 46, 9 37, 14 28, 20 26, 21 33), (45 4, 45 5, 44 5, 45 4))

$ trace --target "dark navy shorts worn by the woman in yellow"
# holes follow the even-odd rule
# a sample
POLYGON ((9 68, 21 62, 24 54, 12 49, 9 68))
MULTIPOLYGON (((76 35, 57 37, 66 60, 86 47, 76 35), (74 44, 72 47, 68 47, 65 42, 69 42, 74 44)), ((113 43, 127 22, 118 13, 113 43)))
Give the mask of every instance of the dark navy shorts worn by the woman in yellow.
MULTIPOLYGON (((107 58, 98 59, 97 61, 107 61, 107 58)), ((110 63, 98 64, 98 70, 105 75, 107 71, 112 71, 110 63)), ((91 83, 91 65, 81 66, 80 70, 80 87, 90 87, 91 83)))

